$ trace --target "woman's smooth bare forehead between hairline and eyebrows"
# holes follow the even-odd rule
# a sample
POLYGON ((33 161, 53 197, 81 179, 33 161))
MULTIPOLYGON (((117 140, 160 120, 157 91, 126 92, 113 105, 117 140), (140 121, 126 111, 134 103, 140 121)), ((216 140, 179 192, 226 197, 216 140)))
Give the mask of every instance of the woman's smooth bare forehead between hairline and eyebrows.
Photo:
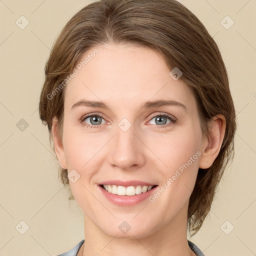
POLYGON ((83 97, 119 108, 150 99, 174 99, 188 108, 195 105, 188 86, 174 80, 162 56, 150 48, 130 44, 92 47, 82 54, 75 69, 66 85, 68 106, 83 97))

